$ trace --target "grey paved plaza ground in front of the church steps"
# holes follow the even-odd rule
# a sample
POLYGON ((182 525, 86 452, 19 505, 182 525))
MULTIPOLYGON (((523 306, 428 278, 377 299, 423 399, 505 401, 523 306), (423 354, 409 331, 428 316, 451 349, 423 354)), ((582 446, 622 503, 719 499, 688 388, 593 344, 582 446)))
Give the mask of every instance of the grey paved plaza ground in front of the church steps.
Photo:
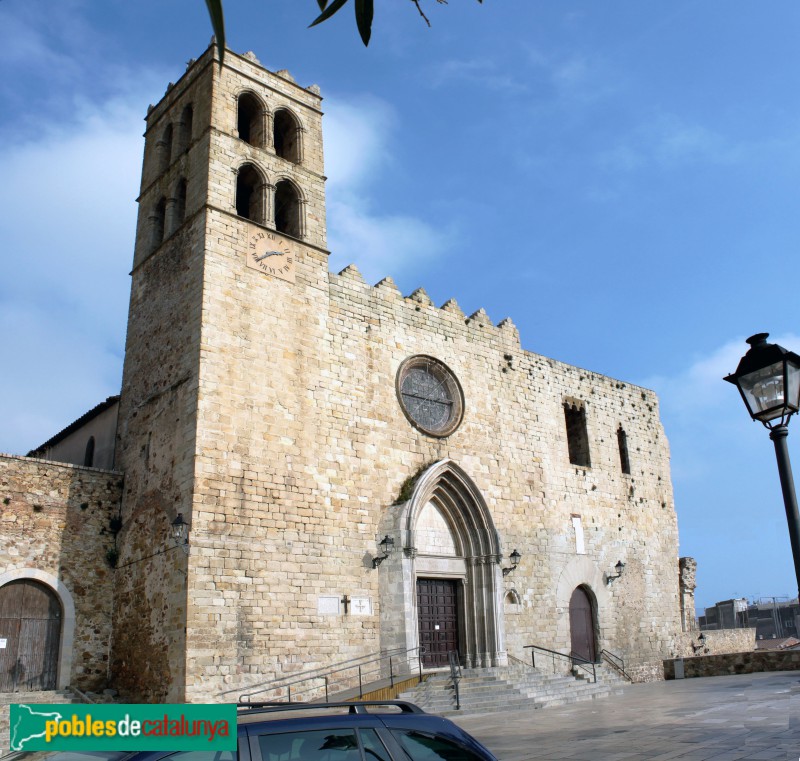
POLYGON ((501 761, 800 761, 800 671, 629 685, 610 698, 456 722, 501 761))

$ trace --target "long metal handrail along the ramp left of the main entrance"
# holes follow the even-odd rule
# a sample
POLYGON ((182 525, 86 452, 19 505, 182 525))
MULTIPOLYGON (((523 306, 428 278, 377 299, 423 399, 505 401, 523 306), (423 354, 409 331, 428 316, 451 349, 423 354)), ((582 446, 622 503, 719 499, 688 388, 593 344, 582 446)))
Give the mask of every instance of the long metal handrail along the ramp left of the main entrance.
MULTIPOLYGON (((364 697, 364 683, 365 678, 369 677, 367 681, 371 681, 372 677, 379 678, 381 673, 381 665, 388 661, 389 665, 389 683, 394 687, 395 677, 401 676, 403 672, 395 671, 395 660, 401 656, 408 656, 410 654, 417 654, 417 665, 419 668, 419 678, 422 681, 422 654, 425 652, 424 647, 412 647, 408 650, 403 648, 393 648, 391 650, 384 650, 378 654, 364 655, 358 658, 350 658, 346 661, 340 661, 333 664, 333 667, 328 667, 327 670, 322 668, 311 669, 305 674, 292 675, 291 677, 279 677, 271 679, 267 682, 254 685, 256 689, 251 689, 250 692, 242 693, 239 696, 239 703, 246 704, 252 702, 252 698, 256 695, 263 695, 265 692, 277 691, 282 693, 285 690, 285 698, 287 702, 297 701, 301 695, 308 692, 318 693, 320 690, 325 692, 325 702, 327 703, 330 696, 331 684, 334 675, 339 675, 338 678, 343 680, 345 672, 357 671, 358 674, 358 694, 359 697, 364 697), (310 683, 310 684, 309 684, 310 683), (298 685, 305 684, 307 686, 298 689, 298 685), (294 688, 294 691, 293 689, 294 688)), ((405 658, 403 658, 405 660, 405 658)), ((408 672, 410 673, 410 671, 408 672)), ((355 679, 355 674, 352 675, 355 679)), ((228 694, 235 692, 235 690, 228 690, 228 694)))

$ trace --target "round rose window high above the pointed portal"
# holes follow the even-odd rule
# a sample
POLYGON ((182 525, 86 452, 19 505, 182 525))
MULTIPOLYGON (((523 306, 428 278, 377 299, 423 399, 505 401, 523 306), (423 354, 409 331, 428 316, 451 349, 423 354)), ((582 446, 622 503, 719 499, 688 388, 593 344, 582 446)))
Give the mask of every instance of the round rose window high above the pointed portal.
POLYGON ((430 436, 449 436, 461 423, 461 386, 450 368, 433 357, 410 357, 401 365, 397 396, 412 425, 430 436))

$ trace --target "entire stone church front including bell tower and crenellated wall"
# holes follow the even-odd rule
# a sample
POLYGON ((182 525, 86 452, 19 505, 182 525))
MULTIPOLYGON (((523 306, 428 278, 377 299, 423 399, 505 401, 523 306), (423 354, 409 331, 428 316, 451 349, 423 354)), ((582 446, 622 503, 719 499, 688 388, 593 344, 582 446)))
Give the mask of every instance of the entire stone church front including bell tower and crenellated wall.
POLYGON ((230 700, 380 651, 486 667, 526 645, 658 678, 685 611, 655 394, 330 273, 322 146, 318 89, 252 54, 209 48, 148 112, 98 549, 111 683, 230 700))

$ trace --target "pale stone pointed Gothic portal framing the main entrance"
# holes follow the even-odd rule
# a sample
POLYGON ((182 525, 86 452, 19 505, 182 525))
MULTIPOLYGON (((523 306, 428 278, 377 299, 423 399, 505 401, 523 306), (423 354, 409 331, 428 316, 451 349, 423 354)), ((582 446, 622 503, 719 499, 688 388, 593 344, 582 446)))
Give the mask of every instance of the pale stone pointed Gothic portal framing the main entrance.
MULTIPOLYGON (((456 623, 450 616, 441 627, 456 627, 451 641, 463 665, 505 664, 500 542, 486 502, 464 470, 452 460, 431 465, 411 499, 392 508, 386 530, 395 551, 380 568, 382 647, 425 644, 431 623, 425 595, 442 587, 454 590, 457 610, 456 623)), ((431 658, 423 662, 439 665, 431 658)))

